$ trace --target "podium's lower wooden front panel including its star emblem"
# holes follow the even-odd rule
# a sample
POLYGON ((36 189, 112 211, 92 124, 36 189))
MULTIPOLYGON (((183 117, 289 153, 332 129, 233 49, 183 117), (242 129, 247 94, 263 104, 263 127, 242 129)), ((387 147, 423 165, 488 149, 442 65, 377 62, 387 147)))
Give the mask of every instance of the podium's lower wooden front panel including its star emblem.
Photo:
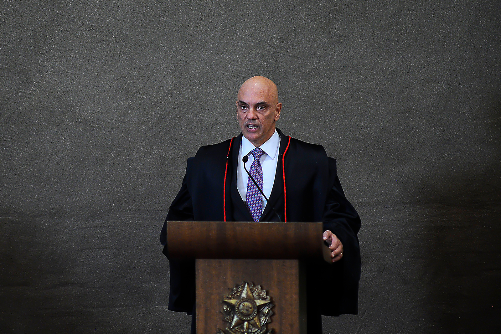
POLYGON ((266 330, 263 328, 259 332, 267 334, 273 328, 276 334, 305 334, 304 277, 301 261, 297 259, 197 259, 197 333, 231 333, 227 327, 232 323, 234 328, 229 329, 233 332, 245 326, 257 330, 260 316, 263 319, 265 312, 269 315, 271 310, 271 322, 265 323, 266 330), (254 295, 249 295, 253 291, 254 295), (240 311, 238 317, 235 310, 240 311), (261 313, 256 314, 256 311, 261 313))

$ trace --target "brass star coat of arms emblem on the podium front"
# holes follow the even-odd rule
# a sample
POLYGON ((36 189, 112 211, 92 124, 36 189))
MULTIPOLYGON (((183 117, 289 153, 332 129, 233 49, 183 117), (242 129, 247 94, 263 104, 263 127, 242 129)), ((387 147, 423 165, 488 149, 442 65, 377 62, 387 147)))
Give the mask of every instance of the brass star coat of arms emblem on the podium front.
POLYGON ((226 329, 218 328, 217 334, 271 334, 273 328, 266 327, 273 314, 271 301, 260 285, 249 282, 235 285, 222 300, 226 329))

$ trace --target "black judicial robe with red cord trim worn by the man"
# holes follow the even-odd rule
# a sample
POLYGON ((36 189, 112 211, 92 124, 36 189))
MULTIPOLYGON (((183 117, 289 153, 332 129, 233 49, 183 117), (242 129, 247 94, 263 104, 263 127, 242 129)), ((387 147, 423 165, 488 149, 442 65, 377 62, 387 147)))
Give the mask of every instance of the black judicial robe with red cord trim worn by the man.
MULTIPOLYGON (((336 263, 329 264, 321 259, 312 259, 306 263, 308 307, 316 307, 324 315, 357 314, 361 270, 357 233, 361 221, 341 188, 336 173, 336 160, 327 157, 321 145, 290 139, 279 129, 277 131, 280 135, 279 162, 270 201, 261 221, 278 221, 272 207, 284 221, 284 171, 287 221, 321 221, 324 231, 331 230, 344 247, 343 258, 336 263)), ((166 222, 224 220, 223 183, 226 160, 226 220, 253 221, 236 188, 241 138, 242 134, 234 137, 231 147, 230 139, 202 146, 194 157, 188 158, 181 189, 169 208, 166 222)), ((206 236, 193 237, 200 238, 200 242, 203 242, 206 236)), ((166 224, 162 228, 160 241, 165 245, 163 253, 168 258, 166 224)), ((168 308, 191 314, 195 302, 194 261, 169 259, 169 265, 168 308)))

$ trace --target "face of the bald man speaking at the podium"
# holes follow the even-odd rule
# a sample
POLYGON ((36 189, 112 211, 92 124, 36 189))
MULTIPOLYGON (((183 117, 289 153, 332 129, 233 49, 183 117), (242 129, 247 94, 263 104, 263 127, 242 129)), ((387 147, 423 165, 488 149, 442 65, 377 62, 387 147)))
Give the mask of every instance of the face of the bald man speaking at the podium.
POLYGON ((282 103, 266 82, 245 82, 238 91, 236 118, 245 138, 254 146, 263 145, 275 132, 282 103))

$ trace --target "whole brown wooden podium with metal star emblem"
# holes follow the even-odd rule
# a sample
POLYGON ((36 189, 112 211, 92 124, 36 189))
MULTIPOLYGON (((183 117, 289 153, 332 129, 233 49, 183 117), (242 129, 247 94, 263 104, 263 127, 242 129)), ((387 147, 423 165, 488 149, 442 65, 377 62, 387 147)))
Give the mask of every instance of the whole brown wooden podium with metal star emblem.
POLYGON ((169 221, 171 258, 195 258, 197 334, 304 334, 303 261, 324 258, 322 223, 169 221))

